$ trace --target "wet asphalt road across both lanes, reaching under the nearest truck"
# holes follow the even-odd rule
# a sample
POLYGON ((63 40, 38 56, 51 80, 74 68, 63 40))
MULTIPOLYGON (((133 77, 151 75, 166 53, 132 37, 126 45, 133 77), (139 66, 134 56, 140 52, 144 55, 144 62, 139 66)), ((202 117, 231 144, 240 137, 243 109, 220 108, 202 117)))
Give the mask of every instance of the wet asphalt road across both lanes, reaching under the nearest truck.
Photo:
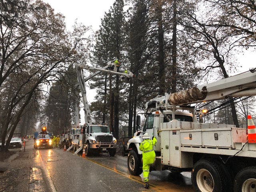
POLYGON ((68 192, 130 192, 166 191, 193 192, 190 172, 171 174, 169 171, 150 172, 150 190, 143 187, 142 174, 131 176, 127 168, 127 157, 99 154, 82 158, 62 149, 34 150, 36 160, 50 178, 56 191, 68 192))

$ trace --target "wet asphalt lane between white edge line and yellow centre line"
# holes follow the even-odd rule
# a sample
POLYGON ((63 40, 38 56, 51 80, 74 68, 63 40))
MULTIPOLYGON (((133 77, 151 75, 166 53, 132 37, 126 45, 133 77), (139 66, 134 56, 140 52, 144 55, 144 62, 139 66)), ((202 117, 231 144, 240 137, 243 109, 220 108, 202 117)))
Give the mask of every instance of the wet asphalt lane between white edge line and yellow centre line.
MULTIPOLYGON (((143 185, 118 172, 61 149, 39 149, 56 191, 109 192, 143 191, 143 185)), ((113 157, 115 158, 115 157, 113 157)))

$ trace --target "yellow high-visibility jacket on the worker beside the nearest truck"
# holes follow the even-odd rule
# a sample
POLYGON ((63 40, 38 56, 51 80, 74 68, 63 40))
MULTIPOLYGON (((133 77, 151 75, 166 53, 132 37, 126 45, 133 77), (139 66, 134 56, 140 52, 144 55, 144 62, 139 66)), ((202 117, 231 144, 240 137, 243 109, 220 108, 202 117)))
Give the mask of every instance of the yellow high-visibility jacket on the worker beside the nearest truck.
POLYGON ((156 145, 156 138, 154 137, 153 140, 145 139, 140 144, 140 150, 142 151, 142 159, 143 164, 152 164, 154 163, 156 154, 154 152, 154 145, 156 145))

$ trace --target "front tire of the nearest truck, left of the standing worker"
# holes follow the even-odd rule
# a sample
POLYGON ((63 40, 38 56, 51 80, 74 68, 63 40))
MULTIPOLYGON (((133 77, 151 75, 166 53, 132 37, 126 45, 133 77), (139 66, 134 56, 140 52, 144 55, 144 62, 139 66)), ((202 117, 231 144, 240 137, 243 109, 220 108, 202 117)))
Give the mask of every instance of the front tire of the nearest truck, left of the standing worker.
POLYGON ((139 156, 134 150, 131 150, 128 154, 127 165, 130 174, 140 175, 142 173, 142 165, 139 156))

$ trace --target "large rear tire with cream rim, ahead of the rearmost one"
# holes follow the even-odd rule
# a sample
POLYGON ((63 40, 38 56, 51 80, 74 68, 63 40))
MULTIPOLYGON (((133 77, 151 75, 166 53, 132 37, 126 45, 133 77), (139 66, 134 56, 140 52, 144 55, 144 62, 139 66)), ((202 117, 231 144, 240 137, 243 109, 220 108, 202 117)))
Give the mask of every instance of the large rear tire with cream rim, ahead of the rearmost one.
POLYGON ((196 192, 230 192, 231 176, 218 161, 202 159, 194 164, 191 173, 196 192))

